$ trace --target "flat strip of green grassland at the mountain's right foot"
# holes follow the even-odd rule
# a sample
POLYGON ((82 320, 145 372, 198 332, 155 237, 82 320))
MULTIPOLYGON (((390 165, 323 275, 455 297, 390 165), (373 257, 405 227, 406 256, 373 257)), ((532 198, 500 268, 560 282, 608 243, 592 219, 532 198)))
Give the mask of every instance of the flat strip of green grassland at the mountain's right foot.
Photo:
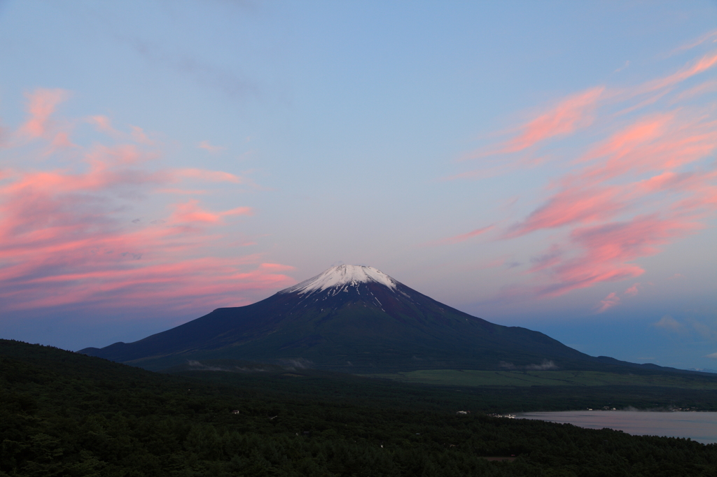
POLYGON ((599 371, 419 370, 363 375, 399 382, 445 386, 660 386, 717 390, 716 377, 701 375, 618 374, 599 371))

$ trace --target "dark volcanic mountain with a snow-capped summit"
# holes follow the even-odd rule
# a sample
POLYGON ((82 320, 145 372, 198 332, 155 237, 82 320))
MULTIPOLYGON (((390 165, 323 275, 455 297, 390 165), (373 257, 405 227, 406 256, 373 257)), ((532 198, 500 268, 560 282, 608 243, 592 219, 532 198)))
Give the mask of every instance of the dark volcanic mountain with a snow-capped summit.
POLYGON ((219 308, 137 342, 80 352, 150 370, 207 359, 345 372, 585 370, 606 360, 539 332, 473 317, 373 267, 354 265, 334 266, 261 302, 219 308))

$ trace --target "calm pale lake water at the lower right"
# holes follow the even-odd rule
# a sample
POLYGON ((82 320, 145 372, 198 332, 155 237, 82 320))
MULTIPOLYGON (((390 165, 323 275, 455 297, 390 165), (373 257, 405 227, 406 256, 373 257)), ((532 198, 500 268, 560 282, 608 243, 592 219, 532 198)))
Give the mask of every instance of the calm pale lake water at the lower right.
POLYGON ((632 435, 690 438, 703 444, 717 443, 717 413, 584 410, 520 413, 516 418, 570 423, 589 429, 610 428, 632 435))

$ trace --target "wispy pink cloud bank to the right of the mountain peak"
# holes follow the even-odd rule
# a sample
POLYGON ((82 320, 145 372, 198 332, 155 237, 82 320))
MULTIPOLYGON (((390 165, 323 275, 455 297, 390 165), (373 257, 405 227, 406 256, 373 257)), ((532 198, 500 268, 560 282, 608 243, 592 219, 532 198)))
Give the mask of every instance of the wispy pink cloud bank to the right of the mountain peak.
MULTIPOLYGON (((712 32, 693 47, 714 37, 712 32)), ((697 233, 714 216, 717 100, 709 93, 716 80, 707 77, 697 86, 688 80, 713 76, 716 66, 717 52, 707 52, 634 87, 569 95, 514 128, 513 138, 462 158, 480 160, 485 168, 453 179, 509 173, 536 156, 551 161, 531 167, 560 168, 533 210, 500 231, 503 241, 536 233, 554 237, 526 271, 538 283, 528 287, 532 296, 635 279, 645 273, 640 259, 697 233)), ((637 286, 625 296, 637 294, 637 286)), ((619 303, 617 293, 610 294, 597 312, 619 303)))

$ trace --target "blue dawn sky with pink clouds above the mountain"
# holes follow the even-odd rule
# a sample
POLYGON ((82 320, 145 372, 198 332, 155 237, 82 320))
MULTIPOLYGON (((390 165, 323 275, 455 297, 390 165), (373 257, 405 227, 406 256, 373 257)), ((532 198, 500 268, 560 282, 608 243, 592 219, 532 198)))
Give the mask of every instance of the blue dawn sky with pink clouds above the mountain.
POLYGON ((714 1, 0 0, 0 337, 362 264, 717 369, 716 107, 714 1))

